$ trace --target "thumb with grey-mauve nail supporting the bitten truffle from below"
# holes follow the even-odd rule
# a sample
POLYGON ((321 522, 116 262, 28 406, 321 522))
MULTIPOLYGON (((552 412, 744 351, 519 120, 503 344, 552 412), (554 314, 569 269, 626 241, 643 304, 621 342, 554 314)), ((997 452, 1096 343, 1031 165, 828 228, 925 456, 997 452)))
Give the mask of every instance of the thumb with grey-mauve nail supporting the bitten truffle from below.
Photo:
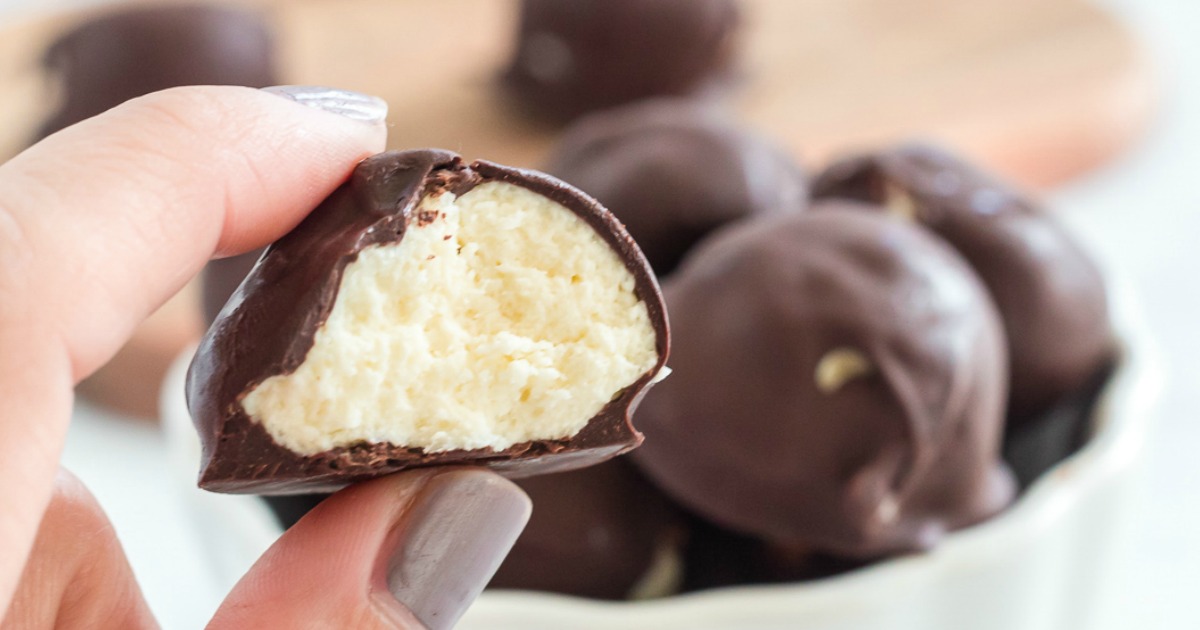
POLYGON ((484 469, 352 486, 284 533, 209 628, 451 628, 529 510, 524 492, 484 469))

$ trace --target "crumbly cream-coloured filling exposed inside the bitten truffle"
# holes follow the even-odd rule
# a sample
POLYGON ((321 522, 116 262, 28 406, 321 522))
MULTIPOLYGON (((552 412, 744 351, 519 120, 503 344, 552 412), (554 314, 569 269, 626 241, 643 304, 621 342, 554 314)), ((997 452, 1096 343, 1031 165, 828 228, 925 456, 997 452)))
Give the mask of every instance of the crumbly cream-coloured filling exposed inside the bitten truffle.
POLYGON ((304 364, 242 398, 276 442, 312 455, 568 438, 654 367, 632 274, 572 211, 504 182, 419 210, 403 240, 347 265, 304 364))

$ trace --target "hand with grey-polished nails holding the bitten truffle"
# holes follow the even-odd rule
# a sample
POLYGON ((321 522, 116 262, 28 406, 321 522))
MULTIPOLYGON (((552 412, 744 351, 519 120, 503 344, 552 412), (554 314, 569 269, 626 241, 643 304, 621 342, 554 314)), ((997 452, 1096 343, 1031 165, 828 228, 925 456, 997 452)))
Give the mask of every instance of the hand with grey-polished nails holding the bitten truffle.
MULTIPOLYGON (((5 628, 154 625, 112 526, 59 470, 72 386, 210 257, 281 236, 383 149, 378 100, 272 91, 157 92, 0 166, 5 628)), ((528 514, 516 486, 475 469, 347 488, 280 539, 212 625, 446 628, 528 514)))

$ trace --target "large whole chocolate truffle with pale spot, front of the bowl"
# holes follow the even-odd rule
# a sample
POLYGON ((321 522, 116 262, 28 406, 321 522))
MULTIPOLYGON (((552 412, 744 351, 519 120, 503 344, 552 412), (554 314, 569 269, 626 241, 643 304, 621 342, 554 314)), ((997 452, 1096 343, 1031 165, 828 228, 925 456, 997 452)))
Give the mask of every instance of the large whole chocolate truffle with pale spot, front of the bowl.
MULTIPOLYGON (((839 204, 842 205, 842 204, 839 204)), ((1012 499, 998 316, 924 229, 844 208, 749 221, 665 284, 672 376, 634 461, 780 548, 928 548, 1012 499)))

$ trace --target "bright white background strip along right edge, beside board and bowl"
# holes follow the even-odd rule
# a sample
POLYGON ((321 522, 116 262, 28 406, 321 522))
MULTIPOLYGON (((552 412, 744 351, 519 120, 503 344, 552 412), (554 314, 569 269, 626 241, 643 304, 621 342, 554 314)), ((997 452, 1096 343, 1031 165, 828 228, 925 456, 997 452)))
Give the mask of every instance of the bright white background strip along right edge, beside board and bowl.
POLYGON ((1168 374, 1110 628, 1200 628, 1200 2, 1103 5, 1158 58, 1162 110, 1140 145, 1052 200, 1109 266, 1132 280, 1168 374))

